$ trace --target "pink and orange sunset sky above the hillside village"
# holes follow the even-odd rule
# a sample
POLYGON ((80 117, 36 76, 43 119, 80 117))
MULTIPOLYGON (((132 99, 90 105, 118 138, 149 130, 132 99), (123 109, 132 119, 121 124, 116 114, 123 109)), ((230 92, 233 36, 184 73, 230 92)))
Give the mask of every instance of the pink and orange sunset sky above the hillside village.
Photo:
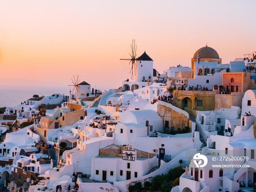
POLYGON ((118 88, 131 79, 120 59, 132 39, 159 73, 191 67, 206 43, 229 63, 256 50, 255 7, 255 0, 2 0, 0 85, 67 86, 79 75, 98 89, 118 88))

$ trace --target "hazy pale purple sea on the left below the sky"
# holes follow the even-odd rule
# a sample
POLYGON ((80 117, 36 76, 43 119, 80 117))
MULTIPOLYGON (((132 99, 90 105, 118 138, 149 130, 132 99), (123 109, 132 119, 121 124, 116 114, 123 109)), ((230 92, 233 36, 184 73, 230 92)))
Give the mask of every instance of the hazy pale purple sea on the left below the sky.
POLYGON ((33 95, 49 96, 53 94, 69 95, 68 86, 63 87, 37 87, 37 86, 0 86, 0 108, 14 107, 33 95))

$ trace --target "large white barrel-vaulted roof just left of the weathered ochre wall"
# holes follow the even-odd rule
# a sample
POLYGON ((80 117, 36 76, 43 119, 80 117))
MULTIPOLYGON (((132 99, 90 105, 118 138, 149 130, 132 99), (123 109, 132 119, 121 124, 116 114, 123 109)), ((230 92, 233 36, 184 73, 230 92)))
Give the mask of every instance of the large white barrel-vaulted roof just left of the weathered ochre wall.
POLYGON ((146 123, 146 121, 159 121, 161 118, 154 110, 134 110, 123 112, 118 121, 121 123, 146 123))

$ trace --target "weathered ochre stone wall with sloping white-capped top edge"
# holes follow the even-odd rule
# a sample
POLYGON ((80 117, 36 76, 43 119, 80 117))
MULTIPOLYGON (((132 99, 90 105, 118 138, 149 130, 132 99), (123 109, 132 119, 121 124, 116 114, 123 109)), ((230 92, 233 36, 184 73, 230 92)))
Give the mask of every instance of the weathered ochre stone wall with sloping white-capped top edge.
MULTIPOLYGON (((182 129, 185 125, 189 125, 189 115, 184 110, 178 109, 175 106, 172 106, 170 103, 166 102, 159 102, 157 105, 157 113, 159 114, 160 118, 163 120, 163 133, 166 132, 165 130, 165 122, 169 121, 169 131, 172 127, 174 129, 182 129), (183 111, 184 113, 179 112, 183 111), (186 114, 187 113, 187 114, 186 114)), ((190 127, 191 128, 191 127, 190 127)))

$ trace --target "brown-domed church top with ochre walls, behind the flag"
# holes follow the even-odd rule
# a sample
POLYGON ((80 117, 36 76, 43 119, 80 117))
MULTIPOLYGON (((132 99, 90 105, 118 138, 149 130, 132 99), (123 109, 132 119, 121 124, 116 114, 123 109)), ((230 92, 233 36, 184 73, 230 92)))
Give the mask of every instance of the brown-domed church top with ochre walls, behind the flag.
POLYGON ((219 54, 217 53, 217 51, 211 47, 208 47, 206 44, 205 47, 198 49, 195 52, 193 58, 191 59, 191 71, 193 71, 193 74, 195 74, 195 64, 198 61, 197 53, 200 56, 200 63, 201 62, 217 62, 218 64, 221 64, 221 59, 219 58, 219 54))

